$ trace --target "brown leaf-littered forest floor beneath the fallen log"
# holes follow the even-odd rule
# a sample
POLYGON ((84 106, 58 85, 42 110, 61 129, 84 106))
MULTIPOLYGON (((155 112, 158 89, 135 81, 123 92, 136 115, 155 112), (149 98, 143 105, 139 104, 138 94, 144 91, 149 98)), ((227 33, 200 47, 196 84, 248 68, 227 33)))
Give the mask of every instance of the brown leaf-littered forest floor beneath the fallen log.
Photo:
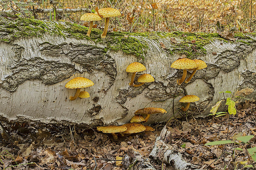
MULTIPOLYGON (((235 140, 237 136, 256 135, 255 104, 255 101, 237 104, 237 114, 230 115, 228 140, 235 140)), ((127 162, 114 161, 122 160, 125 155, 138 161, 149 158, 156 170, 174 170, 171 165, 149 157, 156 137, 165 124, 155 124, 153 132, 119 136, 117 140, 113 140, 111 134, 74 125, 2 123, 14 142, 2 133, 0 170, 125 170, 129 166, 126 165, 127 162)), ((225 165, 224 145, 204 145, 226 139, 228 116, 183 118, 178 119, 176 124, 177 126, 174 121, 168 123, 172 133, 170 146, 180 152, 185 161, 198 165, 198 169, 218 170, 227 165, 226 170, 242 170, 246 169, 244 165, 254 162, 246 148, 256 146, 255 137, 246 144, 226 145, 225 165), (241 149, 235 149, 237 147, 241 149)), ((132 166, 130 163, 130 169, 132 166)))

